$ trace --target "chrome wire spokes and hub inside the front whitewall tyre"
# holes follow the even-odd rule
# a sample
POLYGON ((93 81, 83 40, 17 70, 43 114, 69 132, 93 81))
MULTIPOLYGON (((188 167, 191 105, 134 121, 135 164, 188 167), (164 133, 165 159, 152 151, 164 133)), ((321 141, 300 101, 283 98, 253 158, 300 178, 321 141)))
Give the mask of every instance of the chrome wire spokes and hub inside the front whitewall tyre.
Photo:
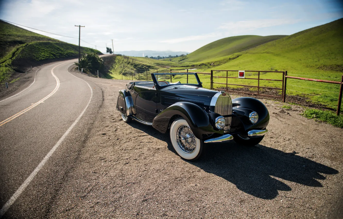
POLYGON ((177 128, 176 139, 179 148, 185 153, 194 152, 197 140, 189 126, 181 125, 177 128))

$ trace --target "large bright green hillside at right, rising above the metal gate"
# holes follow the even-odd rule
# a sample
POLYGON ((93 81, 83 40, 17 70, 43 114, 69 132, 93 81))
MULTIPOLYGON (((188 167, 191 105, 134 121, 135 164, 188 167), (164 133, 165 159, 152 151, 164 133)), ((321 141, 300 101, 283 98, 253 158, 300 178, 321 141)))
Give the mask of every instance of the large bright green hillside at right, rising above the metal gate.
POLYGON ((241 51, 238 58, 214 69, 343 72, 342 35, 343 19, 339 19, 241 51))

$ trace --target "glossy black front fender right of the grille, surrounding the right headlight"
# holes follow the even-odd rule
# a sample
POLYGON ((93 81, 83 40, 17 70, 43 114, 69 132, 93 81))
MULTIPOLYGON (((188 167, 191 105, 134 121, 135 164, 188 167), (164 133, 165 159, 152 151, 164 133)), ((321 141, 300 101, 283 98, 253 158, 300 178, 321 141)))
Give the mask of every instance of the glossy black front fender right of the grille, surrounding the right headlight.
POLYGON ((240 118, 244 129, 266 128, 269 123, 269 112, 265 105, 253 97, 238 97, 232 100, 233 113, 240 118), (249 114, 255 111, 259 115, 258 122, 252 124, 249 114))

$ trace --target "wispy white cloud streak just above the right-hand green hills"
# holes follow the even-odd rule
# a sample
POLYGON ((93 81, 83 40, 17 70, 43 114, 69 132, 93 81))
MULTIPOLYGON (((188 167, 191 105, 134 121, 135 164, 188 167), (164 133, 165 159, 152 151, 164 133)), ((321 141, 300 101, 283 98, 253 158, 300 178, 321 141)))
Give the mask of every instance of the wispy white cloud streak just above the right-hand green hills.
POLYGON ((278 26, 283 24, 295 24, 299 19, 260 19, 248 21, 227 22, 219 26, 219 29, 225 29, 233 32, 249 32, 259 28, 278 26))

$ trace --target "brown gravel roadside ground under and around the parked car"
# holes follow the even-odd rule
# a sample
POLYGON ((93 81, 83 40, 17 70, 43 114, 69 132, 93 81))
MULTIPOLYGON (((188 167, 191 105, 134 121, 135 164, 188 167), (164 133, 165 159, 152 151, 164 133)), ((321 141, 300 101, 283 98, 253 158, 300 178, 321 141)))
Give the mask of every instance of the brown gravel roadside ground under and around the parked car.
MULTIPOLYGON (((169 134, 121 120, 127 81, 96 79, 103 105, 49 218, 342 218, 343 129, 261 100, 269 132, 256 147, 206 145, 182 160, 169 134)), ((233 96, 235 97, 235 96, 233 96)))

